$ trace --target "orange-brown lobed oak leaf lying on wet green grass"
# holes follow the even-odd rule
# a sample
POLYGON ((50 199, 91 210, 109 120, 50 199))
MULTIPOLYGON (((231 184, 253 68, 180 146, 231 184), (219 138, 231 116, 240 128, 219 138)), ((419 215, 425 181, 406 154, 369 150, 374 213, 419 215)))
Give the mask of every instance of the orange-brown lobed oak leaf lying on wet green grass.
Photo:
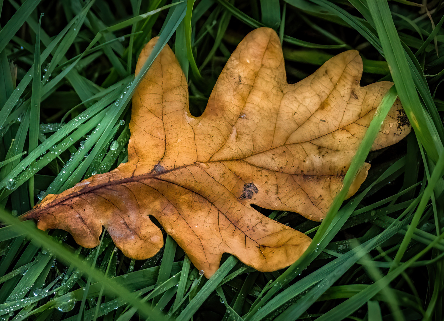
MULTIPOLYGON (((156 41, 141 52, 136 74, 156 41)), ((206 110, 194 117, 186 78, 166 46, 133 97, 128 162, 48 195, 24 218, 41 230, 66 230, 84 247, 99 244, 104 226, 126 256, 146 259, 163 246, 152 215, 206 277, 225 252, 260 271, 289 266, 311 239, 250 204, 316 221, 325 216, 392 86, 360 87, 361 73, 361 57, 350 50, 288 84, 279 38, 259 28, 238 45, 206 110)), ((373 149, 410 131, 398 110, 396 101, 373 149)))

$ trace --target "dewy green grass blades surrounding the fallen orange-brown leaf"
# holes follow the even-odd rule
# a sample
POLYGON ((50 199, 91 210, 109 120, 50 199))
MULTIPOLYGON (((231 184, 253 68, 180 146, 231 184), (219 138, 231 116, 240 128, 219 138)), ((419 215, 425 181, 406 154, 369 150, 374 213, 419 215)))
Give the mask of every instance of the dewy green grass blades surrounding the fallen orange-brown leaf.
MULTIPOLYGON (((0 318, 2 320, 442 320, 444 21, 440 1, 1 1, 0 318), (44 13, 44 16, 41 15, 44 13), (200 115, 230 53, 274 28, 289 82, 358 49, 362 83, 392 80, 345 177, 372 162, 365 186, 325 220, 258 209, 313 238, 287 269, 260 273, 232 256, 210 279, 174 240, 143 262, 104 232, 84 249, 17 215, 49 193, 126 162, 134 77, 152 36, 169 44, 200 115), (37 80, 36 80, 37 79, 37 80), (369 152, 399 96, 414 131, 369 152), (12 213, 12 214, 10 214, 12 213)), ((343 189, 344 191, 347 188, 343 189)))

